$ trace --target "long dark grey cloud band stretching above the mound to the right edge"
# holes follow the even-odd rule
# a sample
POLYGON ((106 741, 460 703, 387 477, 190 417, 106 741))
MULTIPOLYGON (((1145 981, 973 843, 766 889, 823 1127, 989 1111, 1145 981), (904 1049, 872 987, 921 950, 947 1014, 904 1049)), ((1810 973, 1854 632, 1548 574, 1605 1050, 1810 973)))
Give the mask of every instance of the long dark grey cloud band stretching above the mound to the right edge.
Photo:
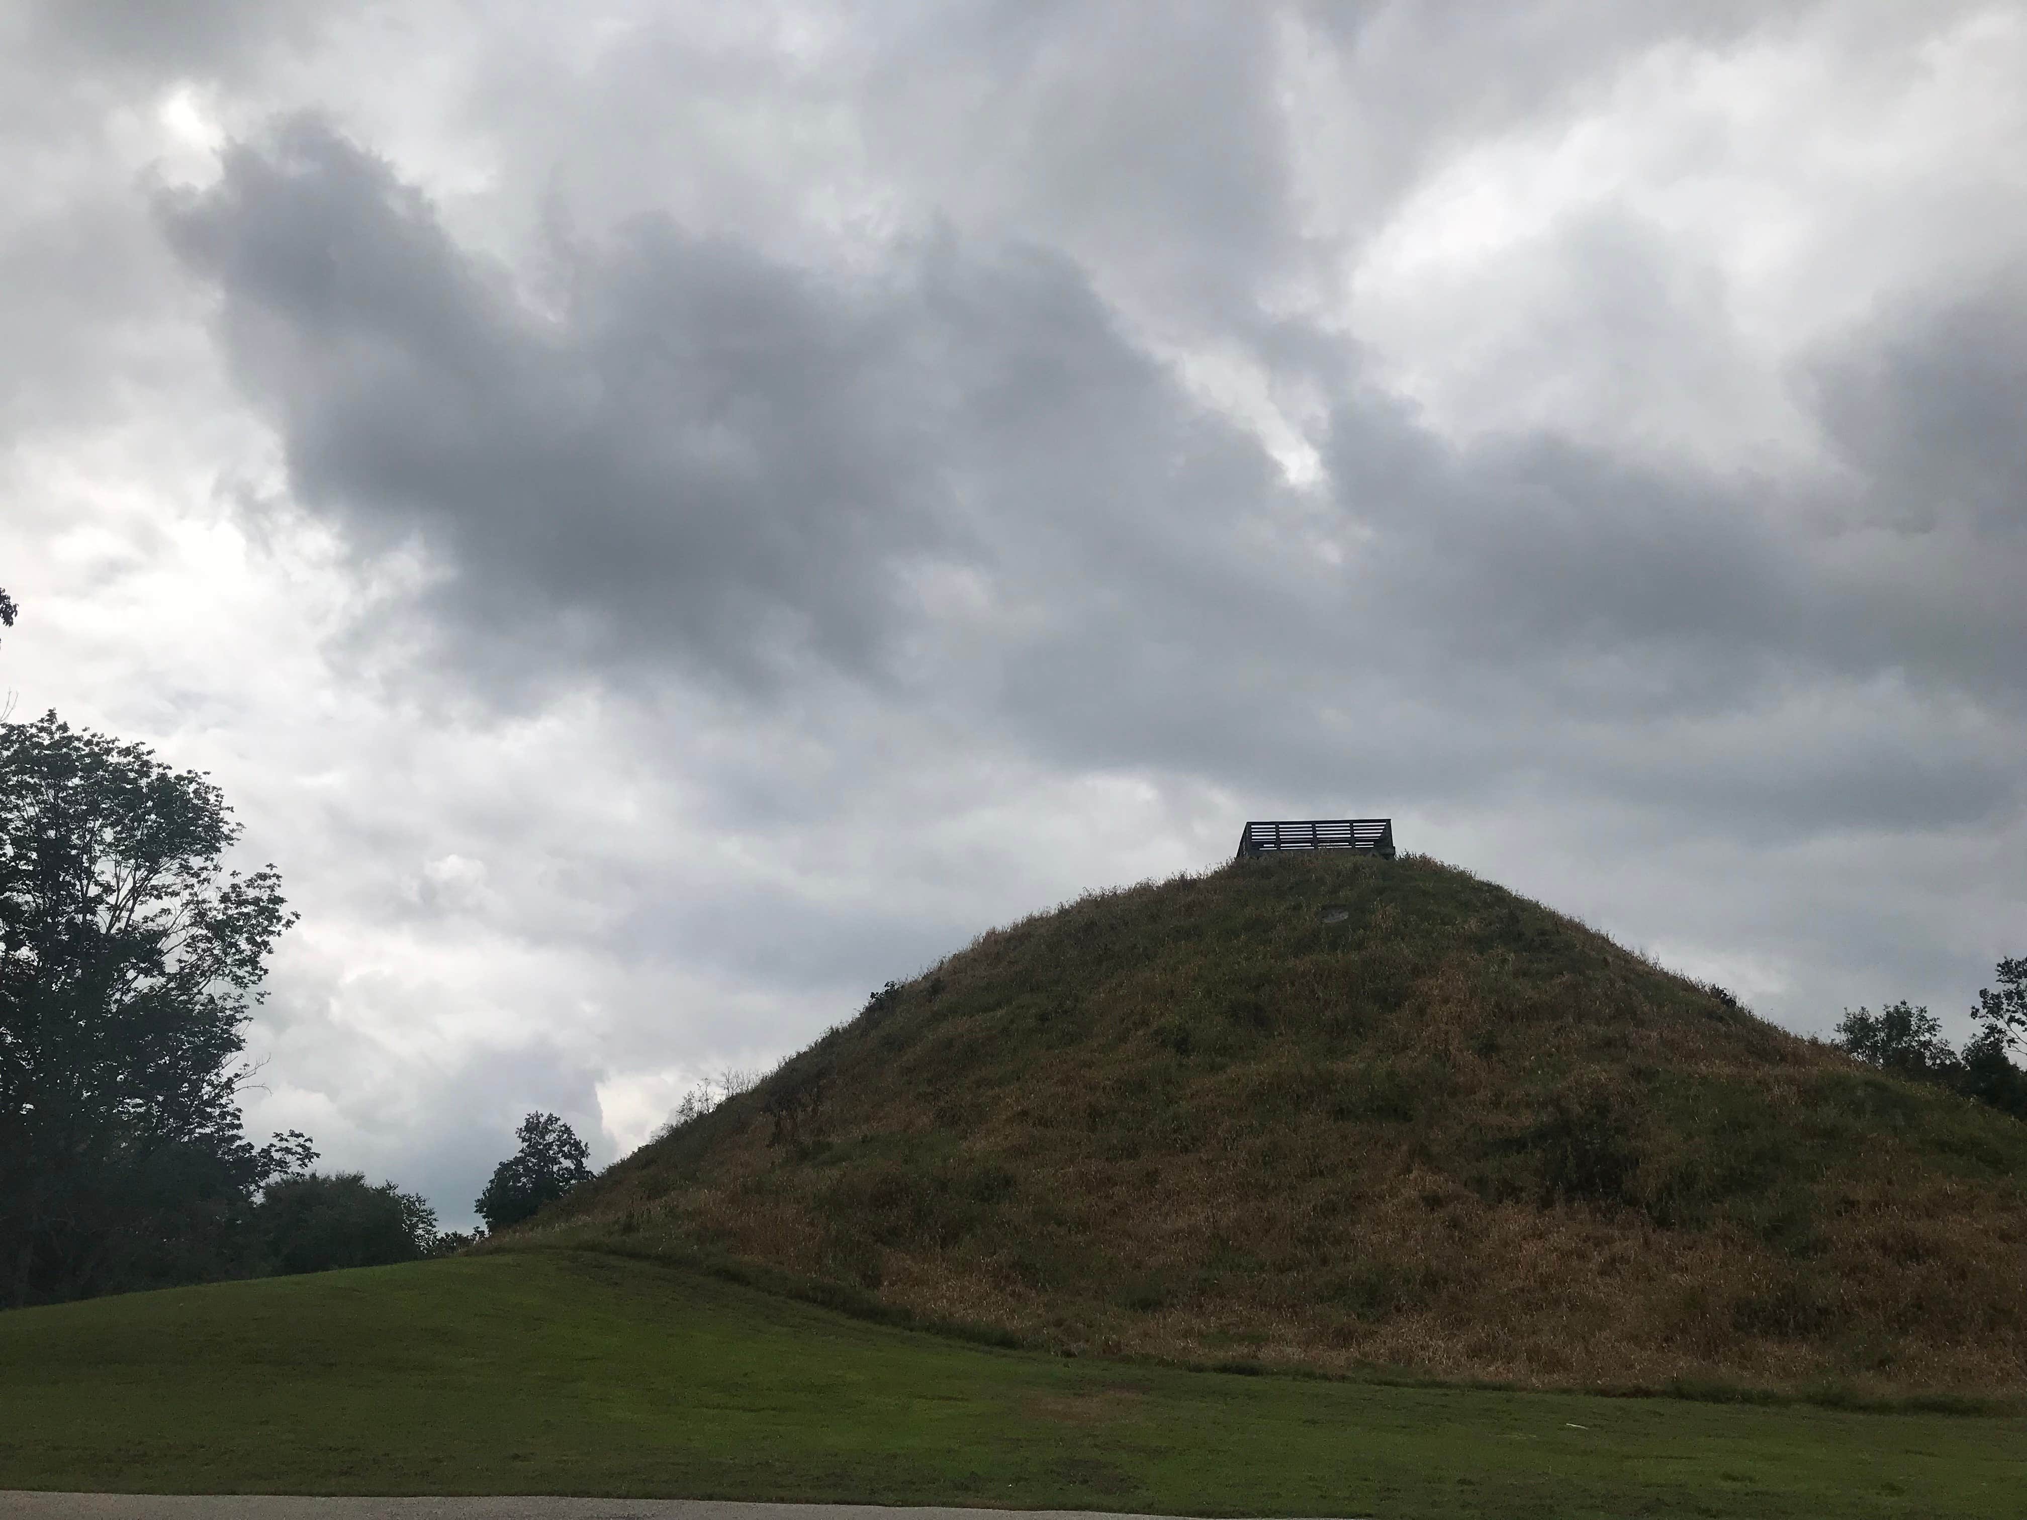
POLYGON ((1563 772, 1804 831, 2017 805, 1960 736, 1770 713, 1909 667, 1930 693, 2017 683, 1980 653, 2017 647, 2017 600, 1966 604, 1952 574, 2019 553, 2017 324, 1991 312, 1820 367, 1855 499, 1934 511, 1958 480, 1970 503, 1948 545, 1853 565, 1843 503, 1447 444, 1342 361, 1330 492, 1303 497, 1072 265, 949 233, 847 284, 643 221, 559 249, 545 308, 312 122, 166 217, 296 497, 359 543, 426 545, 430 616, 493 673, 831 671, 1056 764, 1289 792, 1563 772), (1968 405, 1924 399, 1948 391, 1968 405), (1719 717, 1735 748, 1662 738, 1719 717))

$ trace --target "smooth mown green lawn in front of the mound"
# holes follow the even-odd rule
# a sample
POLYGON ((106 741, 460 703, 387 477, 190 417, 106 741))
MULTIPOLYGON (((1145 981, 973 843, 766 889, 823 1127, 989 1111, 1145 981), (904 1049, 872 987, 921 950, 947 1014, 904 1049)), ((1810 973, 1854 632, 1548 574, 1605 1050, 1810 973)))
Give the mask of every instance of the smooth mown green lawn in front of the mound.
POLYGON ((1062 1360, 523 1250, 0 1313, 0 1488, 2017 1520, 2027 1421, 1062 1360))

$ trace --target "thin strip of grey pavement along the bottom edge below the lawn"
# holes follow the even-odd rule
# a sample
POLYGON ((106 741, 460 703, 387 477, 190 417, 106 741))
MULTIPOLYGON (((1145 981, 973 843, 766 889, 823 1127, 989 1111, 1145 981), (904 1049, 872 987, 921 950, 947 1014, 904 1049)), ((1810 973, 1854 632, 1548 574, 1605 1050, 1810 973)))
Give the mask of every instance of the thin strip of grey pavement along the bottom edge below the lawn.
MULTIPOLYGON (((1095 1510, 1024 1510, 1022 1520, 1159 1520, 1095 1510)), ((4 1520, 1009 1520, 1007 1510, 730 1500, 442 1498, 359 1500, 286 1494, 24 1494, 0 1490, 4 1520)))

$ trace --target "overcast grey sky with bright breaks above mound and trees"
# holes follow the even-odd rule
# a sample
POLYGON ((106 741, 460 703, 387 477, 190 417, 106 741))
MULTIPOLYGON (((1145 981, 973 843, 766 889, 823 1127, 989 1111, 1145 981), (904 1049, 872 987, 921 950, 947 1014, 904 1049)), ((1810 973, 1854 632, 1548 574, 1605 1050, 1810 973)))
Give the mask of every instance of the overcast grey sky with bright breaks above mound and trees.
POLYGON ((2027 953, 2027 4, 0 0, 16 713, 470 1218, 1249 817, 1780 1023, 2027 953))

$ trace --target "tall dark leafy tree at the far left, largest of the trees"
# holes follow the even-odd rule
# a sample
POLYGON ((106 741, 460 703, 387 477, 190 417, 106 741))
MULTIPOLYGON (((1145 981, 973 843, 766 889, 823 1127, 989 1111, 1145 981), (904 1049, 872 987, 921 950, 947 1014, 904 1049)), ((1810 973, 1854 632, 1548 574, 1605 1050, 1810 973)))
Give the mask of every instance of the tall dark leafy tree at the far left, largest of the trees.
MULTIPOLYGON (((12 604, 8 604, 12 606, 12 604)), ((235 1271, 243 1025, 294 922, 205 776, 47 713, 0 724, 0 1303, 235 1271)))

